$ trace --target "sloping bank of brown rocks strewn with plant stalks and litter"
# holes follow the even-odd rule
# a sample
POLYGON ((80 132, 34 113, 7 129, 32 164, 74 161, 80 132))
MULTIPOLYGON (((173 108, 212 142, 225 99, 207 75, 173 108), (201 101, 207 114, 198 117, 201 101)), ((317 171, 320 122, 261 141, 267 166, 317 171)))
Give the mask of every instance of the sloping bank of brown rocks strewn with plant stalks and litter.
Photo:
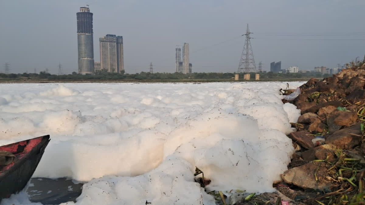
POLYGON ((295 148, 292 162, 274 183, 273 196, 237 205, 365 204, 364 86, 365 63, 322 81, 312 78, 300 86, 299 96, 283 100, 302 114, 288 136, 295 148))

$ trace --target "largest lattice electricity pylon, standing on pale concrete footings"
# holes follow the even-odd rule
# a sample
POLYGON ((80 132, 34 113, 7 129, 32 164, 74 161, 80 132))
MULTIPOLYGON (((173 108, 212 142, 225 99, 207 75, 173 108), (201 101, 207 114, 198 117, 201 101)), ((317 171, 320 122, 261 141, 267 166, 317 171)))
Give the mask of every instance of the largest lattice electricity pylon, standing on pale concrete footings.
POLYGON ((242 72, 242 71, 245 73, 256 72, 256 64, 255 64, 255 59, 253 57, 250 34, 253 33, 250 32, 249 24, 247 24, 246 34, 243 34, 246 36, 245 46, 243 47, 242 50, 241 59, 239 60, 237 72, 242 72))

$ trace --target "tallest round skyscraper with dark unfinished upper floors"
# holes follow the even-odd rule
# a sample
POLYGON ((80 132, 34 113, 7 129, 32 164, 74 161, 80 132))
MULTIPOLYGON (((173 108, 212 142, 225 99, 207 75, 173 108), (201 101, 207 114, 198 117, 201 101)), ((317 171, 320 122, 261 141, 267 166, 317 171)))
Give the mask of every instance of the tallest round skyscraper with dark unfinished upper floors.
POLYGON ((78 73, 91 74, 94 71, 94 41, 92 16, 88 7, 81 7, 77 19, 78 73))

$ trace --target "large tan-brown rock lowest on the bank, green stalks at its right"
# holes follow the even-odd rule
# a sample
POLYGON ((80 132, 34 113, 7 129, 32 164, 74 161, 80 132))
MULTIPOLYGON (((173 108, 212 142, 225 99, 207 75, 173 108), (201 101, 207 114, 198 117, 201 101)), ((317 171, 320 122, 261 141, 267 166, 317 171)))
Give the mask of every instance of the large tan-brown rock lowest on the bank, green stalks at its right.
POLYGON ((313 162, 307 163, 299 167, 289 169, 281 175, 281 178, 285 183, 299 186, 303 189, 324 190, 332 187, 332 183, 325 177, 327 171, 326 163, 319 162, 314 164, 313 162), (318 178, 316 181, 314 174, 318 178))

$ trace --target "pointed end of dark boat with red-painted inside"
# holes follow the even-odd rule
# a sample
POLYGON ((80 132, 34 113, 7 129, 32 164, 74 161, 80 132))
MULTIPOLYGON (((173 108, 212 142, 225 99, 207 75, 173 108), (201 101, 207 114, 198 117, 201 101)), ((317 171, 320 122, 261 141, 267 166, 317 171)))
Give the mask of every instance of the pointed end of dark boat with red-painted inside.
POLYGON ((49 135, 7 144, 0 147, 14 154, 17 160, 0 168, 0 201, 24 189, 32 177, 49 143, 49 135))

